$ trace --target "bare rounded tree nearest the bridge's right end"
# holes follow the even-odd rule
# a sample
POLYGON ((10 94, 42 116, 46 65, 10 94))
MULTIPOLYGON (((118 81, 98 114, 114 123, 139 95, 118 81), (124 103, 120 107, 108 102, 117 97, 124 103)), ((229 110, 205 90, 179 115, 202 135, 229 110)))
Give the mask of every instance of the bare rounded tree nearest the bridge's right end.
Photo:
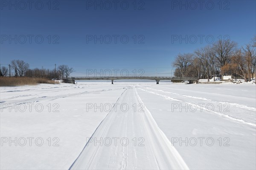
POLYGON ((179 54, 175 58, 175 61, 173 62, 173 66, 180 69, 180 72, 182 74, 182 77, 184 78, 188 67, 192 64, 193 61, 193 54, 187 53, 187 54, 179 54))

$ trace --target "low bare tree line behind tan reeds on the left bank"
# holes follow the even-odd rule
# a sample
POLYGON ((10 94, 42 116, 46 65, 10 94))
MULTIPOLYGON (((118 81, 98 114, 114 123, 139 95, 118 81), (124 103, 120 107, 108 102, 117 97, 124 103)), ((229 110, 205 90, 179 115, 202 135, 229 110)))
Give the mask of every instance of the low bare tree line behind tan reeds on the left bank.
POLYGON ((68 78, 74 72, 72 67, 60 65, 56 69, 29 69, 29 63, 23 60, 12 60, 9 69, 6 66, 0 67, 0 76, 9 77, 32 77, 32 78, 68 78), (12 69, 14 74, 12 74, 12 69))

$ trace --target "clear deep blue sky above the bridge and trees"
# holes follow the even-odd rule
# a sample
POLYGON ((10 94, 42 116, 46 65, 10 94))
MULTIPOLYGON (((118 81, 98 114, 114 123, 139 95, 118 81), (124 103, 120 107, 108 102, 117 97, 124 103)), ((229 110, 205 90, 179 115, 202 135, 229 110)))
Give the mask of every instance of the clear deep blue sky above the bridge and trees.
POLYGON ((178 53, 194 52, 211 43, 212 37, 214 41, 220 35, 230 37, 244 45, 256 35, 255 0, 202 4, 198 0, 23 2, 0 1, 1 66, 20 59, 39 69, 67 64, 76 70, 71 76, 84 75, 86 69, 144 69, 145 74, 155 74, 157 69, 158 74, 169 73, 178 53), (95 42, 94 36, 100 39, 101 35, 102 43, 95 42), (180 36, 187 36, 188 42, 180 42, 180 36))

